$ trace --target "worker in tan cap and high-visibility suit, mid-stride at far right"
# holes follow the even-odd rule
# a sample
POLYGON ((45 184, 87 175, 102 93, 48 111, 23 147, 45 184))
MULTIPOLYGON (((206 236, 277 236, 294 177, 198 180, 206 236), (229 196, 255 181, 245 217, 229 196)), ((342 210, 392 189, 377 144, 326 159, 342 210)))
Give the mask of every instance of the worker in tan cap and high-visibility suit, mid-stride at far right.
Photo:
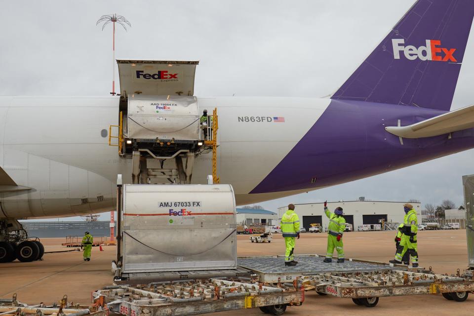
POLYGON ((402 237, 400 245, 396 250, 395 259, 390 260, 390 263, 401 264, 402 258, 406 252, 410 254, 410 259, 413 268, 418 267, 418 247, 416 234, 418 232, 418 218, 413 205, 410 203, 403 204, 405 216, 403 218, 402 237))

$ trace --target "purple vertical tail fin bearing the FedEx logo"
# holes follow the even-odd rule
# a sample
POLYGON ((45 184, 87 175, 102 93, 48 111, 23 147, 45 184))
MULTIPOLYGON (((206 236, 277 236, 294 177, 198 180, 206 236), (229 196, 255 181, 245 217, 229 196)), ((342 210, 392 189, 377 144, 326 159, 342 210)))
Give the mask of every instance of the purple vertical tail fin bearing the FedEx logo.
POLYGON ((418 0, 332 99, 448 111, 474 0, 418 0))

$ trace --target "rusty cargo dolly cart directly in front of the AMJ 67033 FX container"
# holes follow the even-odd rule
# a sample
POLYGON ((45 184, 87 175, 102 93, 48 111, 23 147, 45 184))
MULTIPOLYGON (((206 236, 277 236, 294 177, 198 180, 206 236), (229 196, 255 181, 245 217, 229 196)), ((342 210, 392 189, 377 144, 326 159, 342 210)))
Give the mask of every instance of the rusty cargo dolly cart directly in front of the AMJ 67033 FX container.
POLYGON ((186 316, 248 308, 282 315, 287 306, 303 303, 300 284, 298 280, 273 286, 244 277, 210 278, 106 286, 92 296, 95 302, 103 301, 104 308, 123 316, 186 316))

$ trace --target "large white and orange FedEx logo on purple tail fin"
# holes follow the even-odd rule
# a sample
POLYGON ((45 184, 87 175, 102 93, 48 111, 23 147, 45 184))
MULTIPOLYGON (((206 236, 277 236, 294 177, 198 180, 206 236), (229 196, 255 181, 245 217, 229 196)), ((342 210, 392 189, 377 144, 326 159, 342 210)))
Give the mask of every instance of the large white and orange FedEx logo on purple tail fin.
POLYGON ((413 45, 405 46, 404 39, 393 39, 394 58, 400 59, 400 51, 403 51, 406 59, 415 60, 434 60, 456 62, 454 52, 456 48, 444 48, 440 40, 426 40, 426 46, 415 47, 413 45))

